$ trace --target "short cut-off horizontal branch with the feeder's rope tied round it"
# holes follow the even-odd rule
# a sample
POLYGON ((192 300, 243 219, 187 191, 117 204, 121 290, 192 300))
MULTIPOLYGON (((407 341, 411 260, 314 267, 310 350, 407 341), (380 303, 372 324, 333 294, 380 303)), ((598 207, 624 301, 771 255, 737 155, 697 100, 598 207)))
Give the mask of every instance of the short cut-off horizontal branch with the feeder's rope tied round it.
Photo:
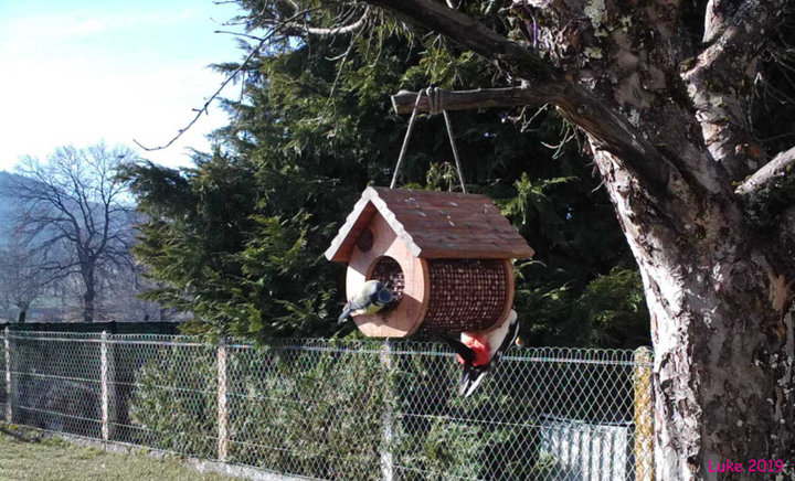
MULTIPOLYGON (((400 90, 392 96, 392 107, 396 114, 411 114, 416 103, 416 92, 400 90)), ((439 100, 446 110, 469 110, 489 107, 539 107, 551 100, 547 92, 530 87, 478 88, 476 90, 439 92, 439 100)), ((430 111, 428 98, 423 95, 417 113, 430 111)))

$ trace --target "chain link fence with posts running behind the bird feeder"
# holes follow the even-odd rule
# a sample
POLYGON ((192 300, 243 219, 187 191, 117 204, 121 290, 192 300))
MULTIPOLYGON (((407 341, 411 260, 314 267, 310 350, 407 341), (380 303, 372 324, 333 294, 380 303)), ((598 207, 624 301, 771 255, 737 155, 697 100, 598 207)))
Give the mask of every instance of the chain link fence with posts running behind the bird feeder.
POLYGON ((7 420, 320 480, 653 480, 647 349, 3 334, 7 420))

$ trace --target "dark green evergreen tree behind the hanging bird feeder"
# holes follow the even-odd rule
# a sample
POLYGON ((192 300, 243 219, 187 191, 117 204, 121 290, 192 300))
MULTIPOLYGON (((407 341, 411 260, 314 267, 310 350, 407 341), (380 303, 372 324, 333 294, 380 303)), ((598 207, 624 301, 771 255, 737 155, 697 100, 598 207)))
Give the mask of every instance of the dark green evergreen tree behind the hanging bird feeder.
MULTIPOLYGON (((237 21, 252 32, 293 11, 241 4, 251 13, 237 21)), ((337 19, 307 15, 318 25, 337 19)), ((165 286, 147 297, 192 311, 213 331, 331 334, 344 269, 322 253, 361 191, 389 184, 406 128, 390 95, 431 83, 490 87, 496 70, 439 36, 381 22, 335 41, 296 25, 241 72, 242 95, 224 100, 231 120, 214 133, 214 152, 197 153, 194 169, 127 171, 150 218, 136 254, 165 286)), ((648 343, 636 267, 571 127, 551 108, 453 113, 453 124, 469 191, 495 199, 537 250, 517 265, 524 342, 648 343), (626 301, 607 306, 597 292, 626 301)), ((444 121, 421 116, 401 182, 451 189, 452 160, 444 121)))

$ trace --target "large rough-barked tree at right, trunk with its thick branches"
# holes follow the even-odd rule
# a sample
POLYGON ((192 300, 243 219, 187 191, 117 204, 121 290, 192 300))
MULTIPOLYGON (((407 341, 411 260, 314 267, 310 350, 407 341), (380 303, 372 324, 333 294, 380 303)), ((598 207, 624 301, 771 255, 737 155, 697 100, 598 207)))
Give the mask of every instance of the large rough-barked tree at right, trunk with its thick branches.
POLYGON ((795 475, 795 259, 782 255, 795 252, 795 213, 788 200, 778 205, 783 226, 771 235, 748 210, 759 185, 771 185, 765 175, 741 194, 732 185, 764 162, 751 148, 742 83, 761 25, 773 29, 786 2, 710 1, 711 44, 691 61, 671 0, 516 0, 539 23, 540 52, 442 3, 368 2, 528 81, 587 133, 651 312, 658 479, 718 479, 709 466, 727 459, 745 471, 720 479, 761 479, 751 459, 782 459, 784 479, 795 475))

